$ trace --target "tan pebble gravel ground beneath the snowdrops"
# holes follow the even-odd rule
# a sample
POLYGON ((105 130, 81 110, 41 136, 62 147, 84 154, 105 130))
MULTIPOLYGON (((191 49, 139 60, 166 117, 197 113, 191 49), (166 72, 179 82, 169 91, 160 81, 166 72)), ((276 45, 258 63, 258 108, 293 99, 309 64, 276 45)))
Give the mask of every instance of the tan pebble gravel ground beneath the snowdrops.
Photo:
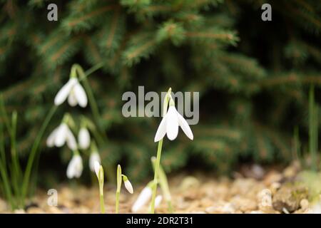
MULTIPOLYGON (((251 165, 241 167, 233 178, 181 173, 169 180, 173 207, 175 213, 311 213, 311 196, 305 185, 297 184, 298 172, 297 165, 280 171, 251 165)), ((126 190, 121 192, 121 213, 131 213, 133 202, 143 187, 134 186, 133 195, 126 190)), ((63 185, 57 191, 56 207, 49 206, 49 196, 39 190, 26 209, 15 213, 99 213, 98 186, 63 185)), ((104 194, 106 212, 114 213, 115 188, 106 186, 104 194)), ((139 212, 148 212, 148 207, 139 212)), ((156 212, 168 212, 164 200, 156 212)), ((11 213, 3 199, 0 199, 0 213, 11 213)))

